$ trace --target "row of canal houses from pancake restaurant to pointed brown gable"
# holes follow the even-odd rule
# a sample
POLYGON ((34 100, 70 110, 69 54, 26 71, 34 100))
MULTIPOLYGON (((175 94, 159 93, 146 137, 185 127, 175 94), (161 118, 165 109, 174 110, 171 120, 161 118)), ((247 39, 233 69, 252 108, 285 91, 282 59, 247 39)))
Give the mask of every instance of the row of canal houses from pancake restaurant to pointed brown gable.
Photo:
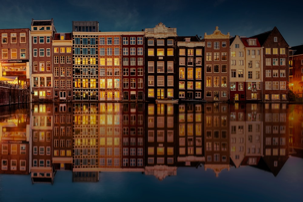
POLYGON ((51 20, 2 29, 1 80, 32 91, 32 101, 288 101, 289 46, 278 29, 231 37, 178 36, 159 23, 142 31, 102 32, 51 20), (19 54, 20 53, 20 54, 19 54))

